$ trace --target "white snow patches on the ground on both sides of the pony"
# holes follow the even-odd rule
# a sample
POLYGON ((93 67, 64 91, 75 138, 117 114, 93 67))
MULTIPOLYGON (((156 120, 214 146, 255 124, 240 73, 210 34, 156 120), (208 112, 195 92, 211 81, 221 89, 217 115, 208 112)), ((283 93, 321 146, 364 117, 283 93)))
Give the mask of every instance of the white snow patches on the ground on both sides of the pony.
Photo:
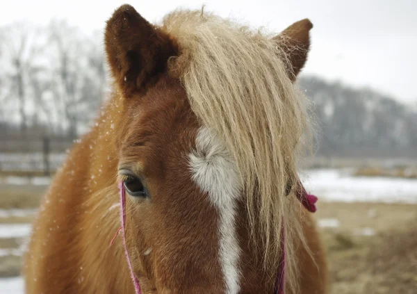
MULTIPOLYGON (((352 177, 352 170, 309 170, 302 172, 302 182, 320 202, 384 202, 417 204, 417 179, 394 179, 386 177, 352 177)), ((11 185, 24 185, 27 179, 9 178, 11 185)), ((49 179, 37 179, 32 184, 47 185, 49 179)), ((0 209, 0 218, 33 215, 34 209, 0 209)), ((336 219, 319 219, 320 227, 339 226, 336 219)), ((30 224, 0 224, 0 238, 25 238, 30 234, 30 224)), ((373 236, 372 229, 358 234, 373 236)), ((23 246, 0 250, 1 255, 22 255, 23 246)), ((24 293, 21 277, 0 279, 0 293, 24 293)))

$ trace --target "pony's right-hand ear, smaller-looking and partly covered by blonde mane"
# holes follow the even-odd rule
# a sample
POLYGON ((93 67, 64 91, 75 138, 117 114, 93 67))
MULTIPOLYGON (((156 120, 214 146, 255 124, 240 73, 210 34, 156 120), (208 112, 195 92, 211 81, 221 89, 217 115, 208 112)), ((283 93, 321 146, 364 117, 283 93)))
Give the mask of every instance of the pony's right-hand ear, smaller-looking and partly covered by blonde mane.
POLYGON ((310 30, 313 28, 309 19, 302 19, 288 26, 284 31, 277 35, 277 40, 281 49, 284 50, 288 58, 288 75, 292 81, 295 81, 297 74, 307 60, 307 54, 310 48, 310 30))

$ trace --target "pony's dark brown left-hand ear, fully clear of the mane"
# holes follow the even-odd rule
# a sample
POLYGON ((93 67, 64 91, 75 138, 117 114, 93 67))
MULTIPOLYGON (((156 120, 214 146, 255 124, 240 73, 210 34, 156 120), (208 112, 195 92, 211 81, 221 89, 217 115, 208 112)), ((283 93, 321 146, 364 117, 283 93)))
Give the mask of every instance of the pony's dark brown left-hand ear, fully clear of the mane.
POLYGON ((111 74, 126 97, 145 93, 177 51, 165 33, 129 5, 108 19, 104 42, 111 74))

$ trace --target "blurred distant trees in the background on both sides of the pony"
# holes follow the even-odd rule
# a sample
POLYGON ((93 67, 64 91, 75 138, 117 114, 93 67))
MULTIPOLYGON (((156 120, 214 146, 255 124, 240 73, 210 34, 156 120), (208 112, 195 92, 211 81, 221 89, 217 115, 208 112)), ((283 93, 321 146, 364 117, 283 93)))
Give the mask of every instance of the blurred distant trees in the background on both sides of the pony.
MULTIPOLYGON (((0 145, 74 139, 87 130, 108 95, 103 53, 101 32, 85 35, 66 22, 0 27, 0 145)), ((317 76, 303 76, 299 85, 318 119, 319 154, 417 154, 417 107, 317 76)))

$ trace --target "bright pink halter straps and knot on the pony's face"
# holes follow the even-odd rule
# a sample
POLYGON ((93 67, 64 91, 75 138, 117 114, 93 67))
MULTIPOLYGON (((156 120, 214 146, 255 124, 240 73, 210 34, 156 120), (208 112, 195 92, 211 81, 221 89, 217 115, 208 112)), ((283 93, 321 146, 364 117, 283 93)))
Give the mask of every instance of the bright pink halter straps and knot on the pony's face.
MULTIPOLYGON (((311 195, 311 194, 307 193, 306 190, 304 189, 304 186, 301 186, 301 187, 302 187, 302 190, 301 190, 300 193, 297 193, 297 195, 296 195, 297 198, 300 200, 300 202, 304 205, 304 207, 308 211, 316 212, 316 210, 317 210, 316 202, 317 202, 318 198, 314 195, 311 195)), ((125 227, 125 224, 126 224, 126 199, 125 199, 126 193, 124 192, 124 186, 123 186, 122 182, 119 183, 119 190, 120 190, 120 222, 122 222, 122 227, 120 227, 117 230, 116 235, 114 236, 113 240, 111 240, 111 245, 113 244, 113 242, 114 242, 117 234, 119 233, 119 231, 122 231, 124 255, 126 256, 127 265, 129 266, 131 279, 132 279, 132 282, 133 282, 133 286, 135 287, 135 293, 136 294, 142 294, 142 291, 140 290, 140 284, 139 284, 138 278, 133 273, 131 259, 129 257, 129 252, 127 251, 127 247, 126 247, 126 235, 125 235, 125 231, 124 231, 124 227, 125 227)), ((282 248, 283 249, 282 249, 281 263, 280 263, 281 270, 279 270, 278 275, 277 275, 277 280, 275 281, 274 294, 284 294, 284 284, 285 284, 285 250, 284 250, 285 247, 284 247, 284 243, 285 243, 285 231, 283 229, 283 231, 282 231, 282 248)))

